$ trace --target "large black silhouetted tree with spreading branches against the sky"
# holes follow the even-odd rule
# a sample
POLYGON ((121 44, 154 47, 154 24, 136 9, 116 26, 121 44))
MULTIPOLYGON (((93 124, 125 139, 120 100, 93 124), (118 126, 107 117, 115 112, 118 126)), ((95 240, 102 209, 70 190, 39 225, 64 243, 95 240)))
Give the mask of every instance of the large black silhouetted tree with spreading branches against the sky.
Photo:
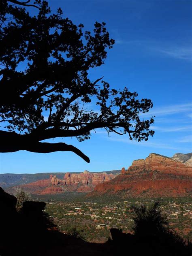
POLYGON ((115 43, 105 23, 84 31, 60 8, 53 14, 46 1, 29 2, 2 0, 0 6, 0 152, 73 151, 90 162, 73 145, 41 141, 84 141, 97 128, 137 141, 153 136, 153 117, 140 118, 153 106, 150 99, 139 100, 126 87, 111 89, 103 77, 89 79, 90 68, 104 64, 115 43), (24 6, 37 7, 37 15, 24 6))

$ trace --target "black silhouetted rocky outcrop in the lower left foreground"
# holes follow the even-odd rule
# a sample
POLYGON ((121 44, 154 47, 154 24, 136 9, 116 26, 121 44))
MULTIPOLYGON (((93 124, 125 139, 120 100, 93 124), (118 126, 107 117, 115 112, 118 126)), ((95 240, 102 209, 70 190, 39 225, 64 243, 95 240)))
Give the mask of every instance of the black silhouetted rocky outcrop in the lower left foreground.
POLYGON ((0 187, 0 255, 36 255, 51 223, 43 213, 46 203, 26 201, 19 212, 16 203, 17 198, 0 187))

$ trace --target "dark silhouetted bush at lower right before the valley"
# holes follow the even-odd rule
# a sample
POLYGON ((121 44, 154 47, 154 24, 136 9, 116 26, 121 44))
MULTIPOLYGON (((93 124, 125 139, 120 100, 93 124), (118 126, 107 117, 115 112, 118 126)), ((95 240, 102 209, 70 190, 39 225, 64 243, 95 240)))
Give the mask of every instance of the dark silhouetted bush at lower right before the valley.
MULTIPOLYGON (((180 237, 175 230, 169 228, 168 217, 156 201, 148 208, 146 206, 133 206, 134 211, 134 237, 136 246, 141 243, 141 250, 147 255, 191 255, 191 243, 180 237)), ((139 252, 139 254, 141 254, 139 252)))

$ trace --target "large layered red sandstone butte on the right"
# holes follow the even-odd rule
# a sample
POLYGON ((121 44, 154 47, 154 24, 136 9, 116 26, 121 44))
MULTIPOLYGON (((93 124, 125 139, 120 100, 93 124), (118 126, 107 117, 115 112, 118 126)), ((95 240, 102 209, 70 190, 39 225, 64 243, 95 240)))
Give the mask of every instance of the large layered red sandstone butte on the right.
POLYGON ((171 158, 150 154, 135 160, 115 179, 98 184, 88 196, 187 196, 192 193, 192 168, 171 158))

